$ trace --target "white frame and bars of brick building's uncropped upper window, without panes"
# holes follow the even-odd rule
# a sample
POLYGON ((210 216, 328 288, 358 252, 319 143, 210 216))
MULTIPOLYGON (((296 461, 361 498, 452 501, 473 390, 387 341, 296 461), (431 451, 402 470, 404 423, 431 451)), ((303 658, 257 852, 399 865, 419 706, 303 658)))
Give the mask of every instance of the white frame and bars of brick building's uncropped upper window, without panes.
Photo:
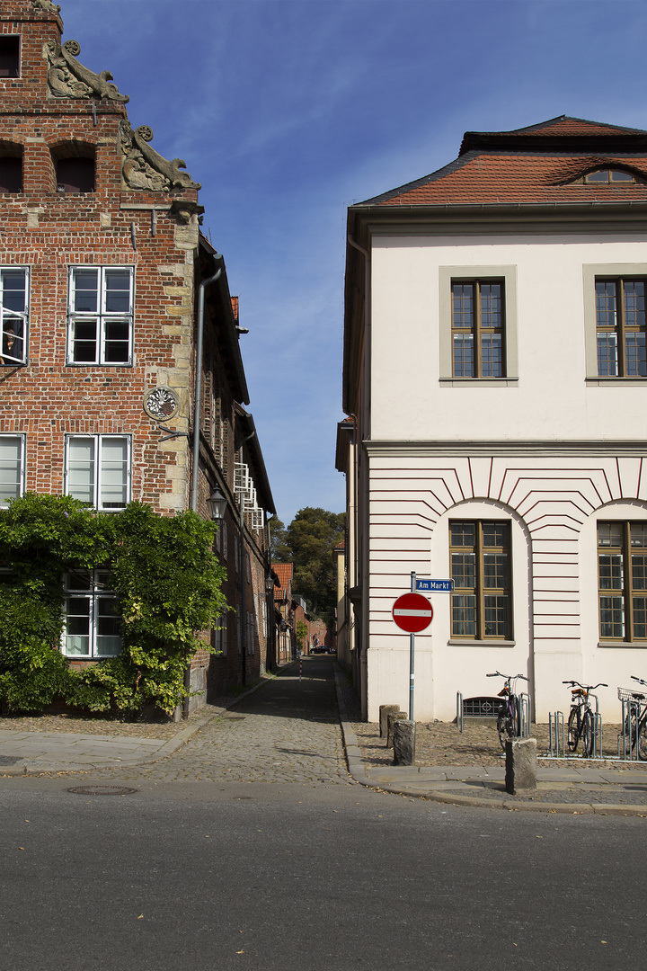
MULTIPOLYGON (((133 266, 94 266, 80 265, 70 266, 68 269, 68 336, 67 336, 67 363, 75 367, 129 367, 133 363, 133 329, 134 329, 134 301, 135 301, 135 268, 133 266), (75 279, 77 273, 87 273, 91 270, 97 273, 97 310, 77 311, 75 279), (106 309, 106 297, 108 287, 106 285, 106 274, 114 270, 121 270, 129 274, 129 303, 128 313, 116 313, 106 309), (106 328, 110 322, 121 322, 128 324, 128 352, 124 359, 111 361, 106 360, 106 328), (75 333, 77 323, 94 323, 94 360, 75 360, 75 333)), ((88 341, 91 343, 91 341, 88 341)), ((124 342, 125 343, 125 342, 124 342)))

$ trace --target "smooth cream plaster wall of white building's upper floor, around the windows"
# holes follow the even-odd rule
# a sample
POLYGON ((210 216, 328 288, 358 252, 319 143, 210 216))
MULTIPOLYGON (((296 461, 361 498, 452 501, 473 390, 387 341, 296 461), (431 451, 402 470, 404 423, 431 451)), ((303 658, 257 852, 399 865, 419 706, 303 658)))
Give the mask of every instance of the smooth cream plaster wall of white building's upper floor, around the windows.
POLYGON ((372 440, 643 438, 647 382, 587 380, 584 268, 628 264, 647 273, 637 234, 374 236, 372 440), (441 373, 441 290, 457 267, 516 278, 517 373, 499 383, 441 373))

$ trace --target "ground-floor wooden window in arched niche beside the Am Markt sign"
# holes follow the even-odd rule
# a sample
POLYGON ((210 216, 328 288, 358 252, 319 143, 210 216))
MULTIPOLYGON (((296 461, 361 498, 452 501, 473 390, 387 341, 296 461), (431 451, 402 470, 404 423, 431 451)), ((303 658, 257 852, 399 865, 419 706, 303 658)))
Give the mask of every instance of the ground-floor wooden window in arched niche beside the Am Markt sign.
POLYGON ((512 636, 510 523, 477 519, 449 524, 451 636, 474 641, 512 636))

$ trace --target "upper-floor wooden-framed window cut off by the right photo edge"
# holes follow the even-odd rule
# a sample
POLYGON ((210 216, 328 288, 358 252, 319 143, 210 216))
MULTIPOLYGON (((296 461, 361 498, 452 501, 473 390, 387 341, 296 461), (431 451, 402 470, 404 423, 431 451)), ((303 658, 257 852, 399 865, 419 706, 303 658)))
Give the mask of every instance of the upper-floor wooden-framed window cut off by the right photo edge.
POLYGON ((645 278, 596 278, 600 378, 647 377, 645 278))

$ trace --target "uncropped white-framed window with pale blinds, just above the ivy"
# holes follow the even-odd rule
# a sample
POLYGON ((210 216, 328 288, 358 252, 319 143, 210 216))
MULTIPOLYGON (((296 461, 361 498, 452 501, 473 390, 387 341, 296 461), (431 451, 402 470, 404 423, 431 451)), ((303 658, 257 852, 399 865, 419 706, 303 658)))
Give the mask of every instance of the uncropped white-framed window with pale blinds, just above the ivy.
POLYGON ((123 509, 130 501, 130 436, 68 435, 65 494, 95 509, 123 509))

